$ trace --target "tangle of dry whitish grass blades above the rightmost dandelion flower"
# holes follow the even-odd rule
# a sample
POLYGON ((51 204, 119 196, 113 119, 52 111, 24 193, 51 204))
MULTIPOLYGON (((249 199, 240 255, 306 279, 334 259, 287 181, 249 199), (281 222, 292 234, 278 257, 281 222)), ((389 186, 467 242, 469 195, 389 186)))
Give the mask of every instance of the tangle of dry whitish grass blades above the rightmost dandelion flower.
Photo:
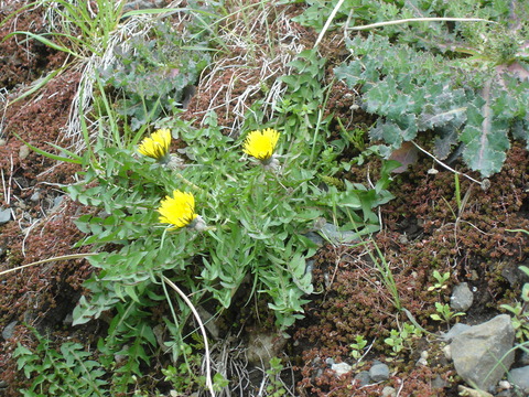
POLYGON ((238 133, 256 99, 262 100, 264 117, 272 117, 284 92, 278 77, 290 73, 289 62, 304 50, 288 7, 236 6, 218 35, 228 53, 212 63, 196 94, 204 98, 205 106, 199 108, 205 110, 199 114, 226 115, 229 135, 238 133))

